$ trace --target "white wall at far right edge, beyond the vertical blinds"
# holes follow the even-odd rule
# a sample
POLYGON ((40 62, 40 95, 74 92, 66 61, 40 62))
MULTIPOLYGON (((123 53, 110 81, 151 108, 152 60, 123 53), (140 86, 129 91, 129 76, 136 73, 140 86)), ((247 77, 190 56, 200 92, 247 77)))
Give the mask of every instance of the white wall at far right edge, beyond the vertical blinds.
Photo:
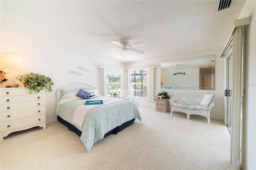
POLYGON ((242 169, 256 169, 256 1, 247 0, 238 19, 252 16, 245 27, 244 110, 242 115, 242 169))

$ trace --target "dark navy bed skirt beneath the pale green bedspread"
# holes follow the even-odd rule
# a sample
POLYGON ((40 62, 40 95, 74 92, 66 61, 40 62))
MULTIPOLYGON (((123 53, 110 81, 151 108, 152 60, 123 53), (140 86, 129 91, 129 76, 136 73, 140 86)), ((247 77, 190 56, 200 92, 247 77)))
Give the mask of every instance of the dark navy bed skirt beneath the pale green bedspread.
MULTIPOLYGON (((66 127, 68 127, 68 129, 70 131, 73 131, 74 133, 76 133, 79 137, 81 137, 82 132, 80 130, 78 130, 74 125, 68 123, 67 121, 65 121, 64 119, 62 119, 60 116, 57 117, 58 121, 60 123, 62 123, 63 125, 65 125, 66 127)), ((122 131, 123 129, 125 129, 126 127, 132 125, 132 123, 135 121, 135 118, 127 121, 125 123, 123 123, 120 126, 117 126, 116 128, 112 129, 111 131, 107 132, 104 135, 104 138, 107 137, 108 135, 112 135, 112 134, 117 134, 118 132, 122 131)))

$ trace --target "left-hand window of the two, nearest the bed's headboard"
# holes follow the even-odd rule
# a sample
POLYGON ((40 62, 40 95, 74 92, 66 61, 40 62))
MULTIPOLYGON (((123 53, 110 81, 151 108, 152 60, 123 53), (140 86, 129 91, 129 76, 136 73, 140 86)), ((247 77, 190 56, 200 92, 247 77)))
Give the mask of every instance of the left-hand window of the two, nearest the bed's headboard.
POLYGON ((122 92, 122 70, 106 69, 106 94, 117 92, 118 95, 122 92))

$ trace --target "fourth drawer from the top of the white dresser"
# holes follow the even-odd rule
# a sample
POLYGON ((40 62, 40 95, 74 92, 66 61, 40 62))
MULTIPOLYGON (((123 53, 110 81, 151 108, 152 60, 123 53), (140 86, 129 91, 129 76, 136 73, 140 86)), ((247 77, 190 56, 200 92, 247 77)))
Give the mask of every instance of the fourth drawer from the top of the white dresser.
POLYGON ((1 113, 1 122, 20 119, 24 117, 36 116, 45 114, 45 107, 34 107, 29 109, 21 109, 14 111, 4 111, 1 113))

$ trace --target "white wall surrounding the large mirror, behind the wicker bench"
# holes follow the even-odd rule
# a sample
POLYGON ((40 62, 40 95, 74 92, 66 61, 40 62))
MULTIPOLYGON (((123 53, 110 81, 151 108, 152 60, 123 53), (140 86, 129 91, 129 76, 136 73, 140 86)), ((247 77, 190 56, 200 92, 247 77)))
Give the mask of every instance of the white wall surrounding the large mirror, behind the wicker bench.
MULTIPOLYGON (((168 95, 170 98, 179 92, 199 92, 199 93, 208 93, 208 94, 215 94, 214 96, 214 104, 215 106, 212 107, 212 110, 210 112, 210 117, 215 119, 224 119, 224 88, 223 88, 223 71, 224 71, 224 59, 218 58, 220 54, 221 49, 215 49, 215 50, 208 50, 208 51, 201 51, 197 53, 189 53, 189 54, 181 54, 181 55, 173 55, 170 57, 162 57, 162 58, 156 58, 156 59, 148 59, 143 62, 134 62, 134 63, 127 63, 126 68, 138 68, 138 67, 148 67, 148 66, 156 66, 155 68, 155 88, 154 93, 155 96, 159 92, 168 92, 168 95), (161 68, 161 62, 163 61, 171 61, 171 60, 177 60, 177 59, 187 59, 192 57, 202 57, 202 56, 208 56, 208 55, 216 55, 216 70, 215 70, 215 90, 182 90, 182 89, 163 89, 161 88, 161 79, 160 79, 160 68, 161 68)), ((143 55, 146 55, 143 54, 143 55)), ((155 103, 148 102, 146 99, 139 99, 140 106, 147 106, 147 107, 155 107, 155 103)))

